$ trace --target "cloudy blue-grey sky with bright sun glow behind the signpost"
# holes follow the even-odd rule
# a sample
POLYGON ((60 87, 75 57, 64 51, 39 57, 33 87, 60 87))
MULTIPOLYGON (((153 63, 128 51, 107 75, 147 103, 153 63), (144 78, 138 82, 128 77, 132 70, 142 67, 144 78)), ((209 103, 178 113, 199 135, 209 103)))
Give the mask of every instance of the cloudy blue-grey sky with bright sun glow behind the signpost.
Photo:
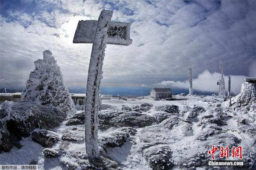
POLYGON ((92 44, 73 36, 79 20, 98 20, 102 9, 133 22, 131 45, 107 45, 102 86, 188 88, 192 67, 195 89, 218 91, 220 60, 238 91, 256 77, 256 0, 0 0, 1 88, 24 87, 46 49, 65 85, 85 87, 92 44))

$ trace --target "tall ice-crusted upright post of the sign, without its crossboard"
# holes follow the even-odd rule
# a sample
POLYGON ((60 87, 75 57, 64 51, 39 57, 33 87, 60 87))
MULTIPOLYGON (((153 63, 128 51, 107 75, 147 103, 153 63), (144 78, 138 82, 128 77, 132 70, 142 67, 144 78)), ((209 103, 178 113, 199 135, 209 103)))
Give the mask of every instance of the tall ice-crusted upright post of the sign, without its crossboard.
POLYGON ((102 64, 108 39, 108 27, 113 11, 102 10, 93 39, 93 48, 87 77, 85 99, 85 144, 86 154, 94 158, 99 156, 98 149, 98 113, 99 85, 102 79, 102 64))

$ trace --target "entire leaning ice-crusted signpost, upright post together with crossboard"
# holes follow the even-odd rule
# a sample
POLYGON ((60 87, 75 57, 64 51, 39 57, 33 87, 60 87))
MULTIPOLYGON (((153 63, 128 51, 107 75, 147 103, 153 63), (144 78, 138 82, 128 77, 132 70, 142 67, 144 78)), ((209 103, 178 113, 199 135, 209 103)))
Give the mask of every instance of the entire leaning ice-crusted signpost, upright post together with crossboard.
POLYGON ((131 23, 111 22, 113 11, 102 10, 99 20, 79 21, 73 43, 93 43, 85 99, 85 144, 88 157, 99 156, 99 85, 106 44, 130 45, 131 23))

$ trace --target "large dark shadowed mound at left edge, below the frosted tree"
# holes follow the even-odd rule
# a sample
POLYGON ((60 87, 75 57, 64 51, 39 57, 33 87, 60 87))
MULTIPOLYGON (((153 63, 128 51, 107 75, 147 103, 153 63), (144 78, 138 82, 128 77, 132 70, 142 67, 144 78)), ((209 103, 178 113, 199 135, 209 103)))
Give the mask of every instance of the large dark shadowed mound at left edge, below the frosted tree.
POLYGON ((52 129, 61 124, 66 113, 52 106, 31 102, 8 102, 0 106, 0 147, 9 152, 13 146, 22 147, 21 137, 28 137, 36 128, 52 129))

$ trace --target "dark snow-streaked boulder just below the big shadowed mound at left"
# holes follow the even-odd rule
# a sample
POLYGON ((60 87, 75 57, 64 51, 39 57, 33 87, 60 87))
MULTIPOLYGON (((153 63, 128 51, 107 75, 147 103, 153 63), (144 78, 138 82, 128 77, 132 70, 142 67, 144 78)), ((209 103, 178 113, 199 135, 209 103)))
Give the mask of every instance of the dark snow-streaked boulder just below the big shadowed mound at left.
POLYGON ((41 144, 43 147, 52 147, 60 140, 58 133, 45 129, 35 130, 31 133, 31 136, 34 142, 41 144))

